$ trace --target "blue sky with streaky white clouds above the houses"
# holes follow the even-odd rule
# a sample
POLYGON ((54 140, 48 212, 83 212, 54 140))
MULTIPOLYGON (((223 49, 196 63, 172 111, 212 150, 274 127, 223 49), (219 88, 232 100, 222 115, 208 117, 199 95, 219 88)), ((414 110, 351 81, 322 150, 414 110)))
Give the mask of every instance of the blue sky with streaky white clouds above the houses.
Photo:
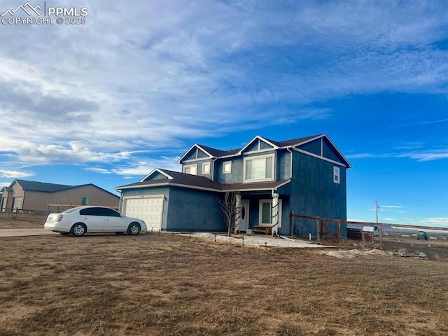
POLYGON ((194 143, 325 133, 353 166, 349 219, 374 221, 378 200, 381 222, 448 226, 446 1, 46 6, 88 15, 1 25, 1 185, 114 191, 179 170, 194 143))

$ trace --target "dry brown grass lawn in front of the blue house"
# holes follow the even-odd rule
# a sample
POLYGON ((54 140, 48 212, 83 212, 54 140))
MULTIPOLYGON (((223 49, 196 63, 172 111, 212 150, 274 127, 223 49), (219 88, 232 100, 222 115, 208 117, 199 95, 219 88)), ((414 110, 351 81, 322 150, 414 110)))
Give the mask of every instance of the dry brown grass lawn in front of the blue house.
POLYGON ((0 255, 0 336, 448 335, 447 260, 169 234, 1 238, 0 255))

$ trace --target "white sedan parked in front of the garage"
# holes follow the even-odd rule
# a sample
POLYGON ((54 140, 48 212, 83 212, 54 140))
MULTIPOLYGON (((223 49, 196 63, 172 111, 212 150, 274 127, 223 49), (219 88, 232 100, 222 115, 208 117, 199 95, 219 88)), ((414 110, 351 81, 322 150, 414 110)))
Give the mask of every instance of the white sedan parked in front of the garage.
POLYGON ((76 237, 87 232, 116 232, 117 235, 127 232, 128 235, 139 235, 140 231, 147 229, 143 220, 123 216, 106 207, 76 207, 60 214, 50 214, 43 228, 76 237))

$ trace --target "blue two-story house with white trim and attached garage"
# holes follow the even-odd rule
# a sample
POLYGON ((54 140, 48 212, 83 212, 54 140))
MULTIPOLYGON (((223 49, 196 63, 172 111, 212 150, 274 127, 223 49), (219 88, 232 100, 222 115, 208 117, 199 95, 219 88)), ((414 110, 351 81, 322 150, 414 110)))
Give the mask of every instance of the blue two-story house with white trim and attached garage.
POLYGON ((148 230, 225 231, 218 200, 237 191, 241 232, 271 226, 279 235, 315 237, 312 222, 296 221, 300 230, 292 228, 292 211, 346 220, 351 165, 325 134, 287 141, 256 136, 231 151, 194 144, 179 164, 181 172, 157 168, 117 187, 123 214, 144 219, 148 230))

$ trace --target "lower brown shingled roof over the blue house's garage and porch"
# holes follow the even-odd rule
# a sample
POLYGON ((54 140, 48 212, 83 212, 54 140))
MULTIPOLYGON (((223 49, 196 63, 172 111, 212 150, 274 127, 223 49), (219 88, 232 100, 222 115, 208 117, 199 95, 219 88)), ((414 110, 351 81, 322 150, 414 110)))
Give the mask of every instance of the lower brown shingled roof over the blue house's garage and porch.
POLYGON ((209 190, 216 192, 232 191, 232 190, 272 190, 279 188, 284 184, 288 183, 289 180, 279 180, 271 181, 265 183, 232 183, 232 184, 222 184, 217 181, 211 181, 204 176, 197 176, 192 174, 174 172, 167 169, 154 169, 153 172, 148 174, 145 179, 137 183, 127 184, 125 186, 116 187, 117 190, 132 189, 132 188, 144 188, 148 187, 162 187, 162 186, 179 186, 182 188, 209 190), (160 173, 167 177, 167 179, 149 179, 148 178, 155 174, 160 173))

